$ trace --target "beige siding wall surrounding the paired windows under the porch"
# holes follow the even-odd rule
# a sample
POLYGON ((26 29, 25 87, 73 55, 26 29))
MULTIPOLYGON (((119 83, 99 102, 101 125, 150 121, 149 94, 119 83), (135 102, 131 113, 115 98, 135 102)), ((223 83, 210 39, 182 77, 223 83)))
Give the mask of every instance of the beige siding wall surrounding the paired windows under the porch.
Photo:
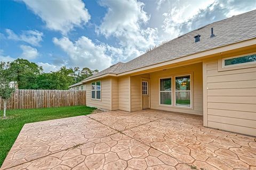
MULTIPOLYGON (((203 115, 203 73, 202 63, 190 64, 182 67, 175 67, 165 71, 150 73, 150 108, 161 109, 165 111, 182 112, 189 114, 203 115), (159 79, 172 77, 175 75, 191 74, 191 104, 192 108, 175 107, 174 99, 172 106, 159 105, 159 79)), ((173 81, 172 81, 173 82, 173 81)), ((174 93, 175 84, 172 84, 172 93, 174 93)))

